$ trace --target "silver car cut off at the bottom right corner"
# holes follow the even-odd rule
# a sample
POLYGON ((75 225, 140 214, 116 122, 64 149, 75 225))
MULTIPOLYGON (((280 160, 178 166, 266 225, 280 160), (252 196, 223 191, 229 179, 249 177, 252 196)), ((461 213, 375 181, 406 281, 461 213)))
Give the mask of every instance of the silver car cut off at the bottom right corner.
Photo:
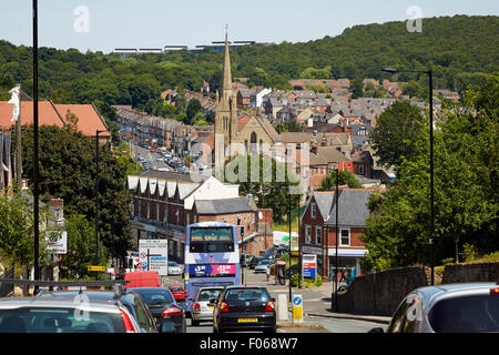
MULTIPOLYGON (((385 331, 374 328, 370 332, 385 331)), ((462 283, 417 288, 403 300, 386 332, 499 332, 499 284, 462 283)))

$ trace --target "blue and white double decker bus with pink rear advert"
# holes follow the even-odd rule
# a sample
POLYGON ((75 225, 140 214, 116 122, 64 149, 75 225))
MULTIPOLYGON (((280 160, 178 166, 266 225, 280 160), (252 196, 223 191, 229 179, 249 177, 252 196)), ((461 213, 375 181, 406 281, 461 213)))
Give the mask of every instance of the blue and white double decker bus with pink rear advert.
MULTIPOLYGON (((190 224, 185 231, 184 288, 194 298, 198 287, 238 285, 237 226, 222 222, 190 224)), ((187 310, 191 301, 187 300, 187 310)))

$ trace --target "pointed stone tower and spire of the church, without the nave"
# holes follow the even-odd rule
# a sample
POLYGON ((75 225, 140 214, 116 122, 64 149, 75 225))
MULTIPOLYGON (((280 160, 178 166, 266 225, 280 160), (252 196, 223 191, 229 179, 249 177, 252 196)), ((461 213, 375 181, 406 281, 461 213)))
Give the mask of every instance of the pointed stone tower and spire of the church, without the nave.
POLYGON ((216 92, 215 108, 215 171, 222 169, 225 160, 232 155, 231 143, 234 143, 237 134, 236 94, 232 89, 227 33, 225 33, 225 55, 221 89, 221 93, 216 92))

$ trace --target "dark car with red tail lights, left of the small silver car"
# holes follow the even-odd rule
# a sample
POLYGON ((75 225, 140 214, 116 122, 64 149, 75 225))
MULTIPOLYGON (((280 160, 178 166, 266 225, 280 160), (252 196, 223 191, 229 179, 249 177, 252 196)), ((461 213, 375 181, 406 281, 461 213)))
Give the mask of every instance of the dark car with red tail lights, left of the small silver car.
POLYGON ((132 287, 144 300, 157 327, 173 323, 175 333, 185 333, 185 311, 179 305, 171 291, 166 287, 132 287), (163 325, 164 324, 164 325, 163 325))

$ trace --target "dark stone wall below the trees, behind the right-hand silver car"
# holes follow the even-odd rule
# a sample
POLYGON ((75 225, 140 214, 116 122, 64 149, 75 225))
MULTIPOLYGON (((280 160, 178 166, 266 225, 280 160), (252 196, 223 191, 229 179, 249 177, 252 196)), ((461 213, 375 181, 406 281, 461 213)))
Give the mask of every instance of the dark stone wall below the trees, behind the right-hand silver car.
MULTIPOLYGON (((430 274, 429 267, 414 266, 358 276, 338 295, 338 312, 391 316, 407 294, 430 285, 430 274)), ((446 265, 441 283, 498 281, 499 263, 481 263, 446 265)), ((437 275, 435 283, 440 283, 437 275)))

